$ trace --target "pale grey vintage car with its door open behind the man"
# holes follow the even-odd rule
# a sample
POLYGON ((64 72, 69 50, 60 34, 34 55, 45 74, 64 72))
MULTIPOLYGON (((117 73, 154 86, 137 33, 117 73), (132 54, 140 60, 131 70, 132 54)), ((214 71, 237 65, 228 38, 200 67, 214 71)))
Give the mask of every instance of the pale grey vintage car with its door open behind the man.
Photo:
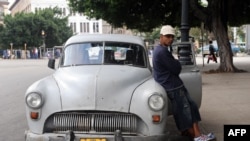
MULTIPOLYGON (((88 34, 68 39, 59 62, 49 59, 55 72, 26 91, 25 140, 166 140, 171 105, 152 77, 147 52, 136 36, 88 34)), ((193 61, 183 66, 181 77, 200 106, 201 76, 193 61)))

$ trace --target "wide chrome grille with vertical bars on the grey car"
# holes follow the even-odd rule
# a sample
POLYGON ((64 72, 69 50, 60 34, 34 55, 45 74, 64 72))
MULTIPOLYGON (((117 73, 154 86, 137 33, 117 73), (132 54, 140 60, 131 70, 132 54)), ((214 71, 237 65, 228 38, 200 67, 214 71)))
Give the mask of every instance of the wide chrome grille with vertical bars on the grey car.
POLYGON ((45 123, 44 132, 111 134, 120 130, 123 134, 135 134, 137 118, 126 113, 56 113, 45 123))

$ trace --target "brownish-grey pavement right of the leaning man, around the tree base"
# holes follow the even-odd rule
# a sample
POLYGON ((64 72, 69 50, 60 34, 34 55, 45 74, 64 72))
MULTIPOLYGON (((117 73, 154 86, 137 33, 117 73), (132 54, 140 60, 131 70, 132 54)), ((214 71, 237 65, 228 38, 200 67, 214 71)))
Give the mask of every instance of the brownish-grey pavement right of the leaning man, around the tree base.
MULTIPOLYGON (((225 124, 250 124, 250 56, 239 54, 233 57, 234 65, 244 73, 207 74, 204 71, 216 69, 218 63, 206 63, 197 56, 196 61, 202 72, 202 104, 200 114, 201 130, 204 133, 214 132, 217 141, 224 140, 223 127, 225 124)), ((168 122, 171 135, 179 135, 173 118, 168 122)), ((181 141, 178 136, 171 141, 181 141)), ((169 140, 169 141, 170 141, 169 140)))

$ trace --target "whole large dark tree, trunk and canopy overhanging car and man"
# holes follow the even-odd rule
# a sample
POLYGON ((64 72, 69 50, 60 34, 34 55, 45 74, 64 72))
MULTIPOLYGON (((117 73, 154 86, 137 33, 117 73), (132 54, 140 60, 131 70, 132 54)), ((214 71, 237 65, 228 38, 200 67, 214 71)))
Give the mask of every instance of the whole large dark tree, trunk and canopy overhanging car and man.
MULTIPOLYGON (((69 0, 70 7, 91 18, 101 18, 114 27, 126 25, 130 29, 151 31, 163 24, 180 26, 181 0, 69 0)), ((205 28, 215 35, 220 49, 220 72, 238 72, 233 64, 227 26, 250 22, 250 1, 189 0, 189 25, 205 28), (239 20, 240 19, 240 20, 239 20)))

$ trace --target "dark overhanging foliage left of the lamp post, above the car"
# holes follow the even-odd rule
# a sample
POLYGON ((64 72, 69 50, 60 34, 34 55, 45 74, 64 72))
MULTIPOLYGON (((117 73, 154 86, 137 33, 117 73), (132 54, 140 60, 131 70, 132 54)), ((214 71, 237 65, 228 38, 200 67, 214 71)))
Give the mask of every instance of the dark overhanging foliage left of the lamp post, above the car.
POLYGON ((177 25, 180 18, 178 1, 166 0, 70 0, 73 10, 91 18, 101 18, 115 27, 126 25, 130 29, 150 31, 171 21, 177 25), (176 10, 174 7, 176 6, 176 10))

